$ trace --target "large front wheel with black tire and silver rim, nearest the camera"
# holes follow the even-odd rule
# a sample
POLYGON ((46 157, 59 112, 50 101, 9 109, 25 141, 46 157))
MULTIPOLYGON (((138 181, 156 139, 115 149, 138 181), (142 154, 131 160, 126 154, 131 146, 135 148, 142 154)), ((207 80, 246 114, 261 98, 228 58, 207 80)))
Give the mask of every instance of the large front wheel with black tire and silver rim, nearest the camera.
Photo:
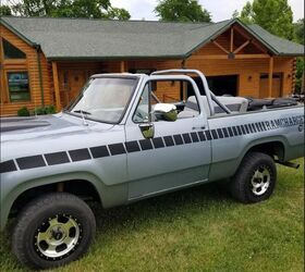
POLYGON ((17 259, 35 269, 66 264, 89 247, 96 230, 90 208, 78 197, 51 193, 21 212, 12 246, 17 259))

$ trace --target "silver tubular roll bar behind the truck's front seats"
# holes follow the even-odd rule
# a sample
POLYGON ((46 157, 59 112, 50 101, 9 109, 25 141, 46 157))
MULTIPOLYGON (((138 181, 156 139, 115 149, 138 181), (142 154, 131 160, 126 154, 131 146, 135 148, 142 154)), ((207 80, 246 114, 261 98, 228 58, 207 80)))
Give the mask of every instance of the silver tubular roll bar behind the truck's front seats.
POLYGON ((196 74, 197 76, 200 77, 200 79, 203 82, 208 106, 209 106, 209 110, 210 110, 210 115, 215 114, 212 101, 215 101, 224 112, 227 112, 229 114, 231 113, 231 111, 228 109, 228 107, 222 104, 217 99, 217 97, 212 94, 212 91, 209 89, 207 78, 200 71, 193 70, 193 69, 171 69, 171 70, 156 71, 156 72, 151 73, 151 75, 164 75, 164 74, 196 74))

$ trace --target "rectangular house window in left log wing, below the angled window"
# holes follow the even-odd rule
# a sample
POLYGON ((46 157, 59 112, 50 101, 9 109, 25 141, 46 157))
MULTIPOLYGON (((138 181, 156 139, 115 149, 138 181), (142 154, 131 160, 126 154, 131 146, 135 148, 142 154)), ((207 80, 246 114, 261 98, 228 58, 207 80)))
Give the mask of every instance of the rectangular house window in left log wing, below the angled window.
POLYGON ((27 72, 8 72, 8 86, 12 102, 30 100, 27 72))

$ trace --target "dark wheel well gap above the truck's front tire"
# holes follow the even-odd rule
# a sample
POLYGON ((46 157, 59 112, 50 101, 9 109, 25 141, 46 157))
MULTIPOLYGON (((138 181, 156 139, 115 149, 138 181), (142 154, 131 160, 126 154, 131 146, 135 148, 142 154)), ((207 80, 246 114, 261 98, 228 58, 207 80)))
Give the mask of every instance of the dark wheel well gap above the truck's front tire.
POLYGON ((64 181, 48 185, 34 187, 23 191, 13 202, 10 215, 14 217, 19 211, 34 198, 51 191, 64 191, 73 194, 84 201, 101 202, 95 186, 88 181, 64 181))

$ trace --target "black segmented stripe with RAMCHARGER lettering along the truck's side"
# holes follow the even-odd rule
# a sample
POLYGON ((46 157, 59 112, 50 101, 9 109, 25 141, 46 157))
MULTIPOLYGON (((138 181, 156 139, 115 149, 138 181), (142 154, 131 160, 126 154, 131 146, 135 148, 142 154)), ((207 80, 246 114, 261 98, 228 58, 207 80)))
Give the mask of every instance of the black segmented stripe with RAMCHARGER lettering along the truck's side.
POLYGON ((256 134, 281 127, 303 125, 304 116, 292 116, 280 120, 271 120, 256 123, 248 123, 236 126, 219 127, 192 133, 167 135, 152 139, 132 140, 126 143, 114 143, 107 146, 96 146, 76 150, 62 150, 54 153, 35 154, 29 157, 16 158, 0 163, 0 173, 8 173, 34 168, 44 168, 63 163, 93 160, 105 157, 112 157, 125 153, 141 152, 151 149, 170 148, 183 146, 205 140, 218 140, 231 137, 239 137, 247 134, 256 134), (68 157, 70 154, 70 158, 68 157), (46 164, 47 163, 47 164, 46 164))

